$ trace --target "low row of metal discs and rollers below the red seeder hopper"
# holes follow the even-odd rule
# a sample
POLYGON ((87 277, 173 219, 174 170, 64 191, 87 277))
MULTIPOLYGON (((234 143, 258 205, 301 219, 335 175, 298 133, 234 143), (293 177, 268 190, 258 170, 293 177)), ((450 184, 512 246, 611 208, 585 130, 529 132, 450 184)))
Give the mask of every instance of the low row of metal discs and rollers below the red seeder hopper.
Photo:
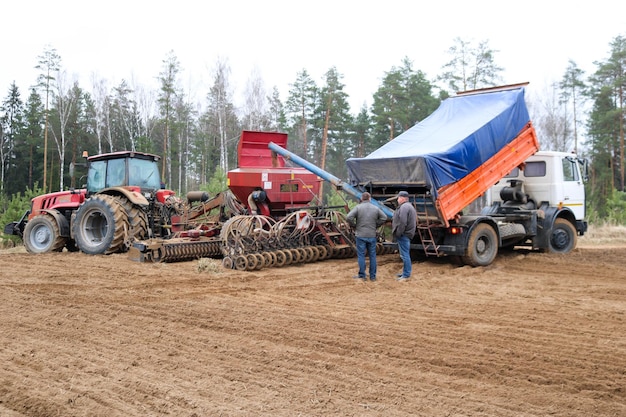
MULTIPOLYGON (((190 232, 189 232, 190 233, 190 232)), ((236 215, 219 236, 175 237, 135 242, 129 257, 139 262, 181 262, 222 258, 227 269, 253 271, 356 255, 355 237, 342 213, 314 217, 298 211, 276 221, 262 215, 236 215)), ((391 249, 378 244, 378 254, 391 249)))

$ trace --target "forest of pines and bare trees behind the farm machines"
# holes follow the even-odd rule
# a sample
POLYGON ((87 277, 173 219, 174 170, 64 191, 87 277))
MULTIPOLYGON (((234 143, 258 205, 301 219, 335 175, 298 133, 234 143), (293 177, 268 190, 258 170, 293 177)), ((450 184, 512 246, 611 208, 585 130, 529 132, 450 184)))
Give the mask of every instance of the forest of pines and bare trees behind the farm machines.
MULTIPOLYGON (((589 161, 587 218, 626 224, 624 99, 626 38, 615 37, 609 54, 586 74, 569 61, 544 97, 527 97, 532 121, 546 150, 573 151, 589 161)), ((449 61, 435 78, 408 58, 381 74, 369 107, 351 109, 340 69, 316 81, 306 68, 294 74, 288 95, 266 89, 252 76, 242 103, 235 103, 231 68, 215 62, 211 85, 200 102, 181 85, 181 68, 170 51, 155 68, 158 89, 122 80, 87 88, 68 76, 53 46, 33 57, 38 70, 29 91, 15 83, 0 95, 0 220, 19 219, 38 194, 80 188, 89 155, 134 150, 160 155, 168 188, 219 192, 225 173, 237 167, 242 130, 288 133, 288 148, 346 178, 345 160, 362 157, 430 115, 458 91, 502 85, 503 69, 488 41, 454 40, 449 61)), ((518 80, 523 81, 523 80, 518 80)), ((328 187, 327 187, 328 188, 328 187)))

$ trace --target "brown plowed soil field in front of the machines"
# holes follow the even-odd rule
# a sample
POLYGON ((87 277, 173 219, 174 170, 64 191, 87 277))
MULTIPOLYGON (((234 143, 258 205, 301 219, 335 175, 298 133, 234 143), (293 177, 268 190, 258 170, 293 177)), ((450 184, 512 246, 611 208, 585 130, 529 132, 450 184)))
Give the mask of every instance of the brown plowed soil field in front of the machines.
POLYGON ((398 283, 391 254, 371 283, 356 259, 3 251, 0 416, 626 416, 625 259, 435 259, 398 283))

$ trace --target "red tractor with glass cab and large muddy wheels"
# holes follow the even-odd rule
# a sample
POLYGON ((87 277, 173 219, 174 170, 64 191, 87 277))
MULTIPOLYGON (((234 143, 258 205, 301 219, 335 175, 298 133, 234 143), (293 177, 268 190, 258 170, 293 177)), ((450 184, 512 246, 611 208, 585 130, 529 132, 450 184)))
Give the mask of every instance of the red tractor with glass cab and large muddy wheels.
POLYGON ((167 236, 180 201, 162 188, 159 159, 129 151, 88 157, 86 188, 33 198, 31 209, 4 232, 21 236, 30 253, 65 247, 92 255, 125 252, 133 240, 167 236))

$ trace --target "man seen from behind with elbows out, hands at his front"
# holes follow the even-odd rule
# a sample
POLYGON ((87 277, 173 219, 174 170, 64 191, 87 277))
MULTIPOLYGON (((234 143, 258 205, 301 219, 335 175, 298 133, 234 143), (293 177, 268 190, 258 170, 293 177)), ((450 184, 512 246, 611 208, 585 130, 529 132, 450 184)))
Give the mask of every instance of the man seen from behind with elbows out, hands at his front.
POLYGON ((361 195, 361 202, 348 213, 347 220, 355 228, 356 254, 359 275, 354 278, 365 280, 365 254, 370 262, 370 281, 376 281, 376 229, 387 221, 387 215, 372 204, 368 192, 361 195))

